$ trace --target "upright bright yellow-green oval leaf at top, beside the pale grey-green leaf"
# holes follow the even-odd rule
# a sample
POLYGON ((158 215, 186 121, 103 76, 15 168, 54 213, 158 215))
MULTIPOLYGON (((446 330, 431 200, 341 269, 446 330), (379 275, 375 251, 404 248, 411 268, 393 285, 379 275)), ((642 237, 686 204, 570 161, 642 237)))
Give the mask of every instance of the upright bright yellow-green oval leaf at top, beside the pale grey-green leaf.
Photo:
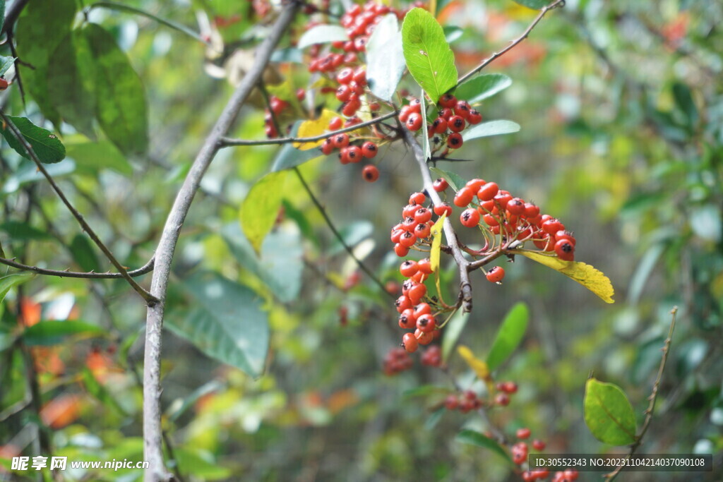
POLYGON ((454 54, 442 26, 427 10, 407 12, 402 23, 402 47, 409 72, 432 102, 457 84, 454 54))

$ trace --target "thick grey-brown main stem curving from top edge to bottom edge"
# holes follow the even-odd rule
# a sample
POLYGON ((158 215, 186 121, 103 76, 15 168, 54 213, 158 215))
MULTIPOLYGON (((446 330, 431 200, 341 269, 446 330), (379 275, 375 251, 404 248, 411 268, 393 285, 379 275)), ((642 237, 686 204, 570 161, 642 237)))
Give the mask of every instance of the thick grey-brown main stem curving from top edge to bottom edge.
POLYGON ((288 4, 270 29, 267 38, 256 53, 254 64, 223 109, 221 116, 206 137, 204 145, 196 156, 184 183, 176 195, 168 219, 163 226, 161 239, 155 252, 155 270, 151 280, 150 292, 160 301, 148 306, 145 332, 145 355, 143 366, 143 454, 150 467, 145 472, 146 482, 168 481, 168 473, 163 462, 163 431, 161 430, 161 330, 163 329, 163 311, 165 308, 168 277, 171 274, 171 262, 178 242, 181 227, 198 191, 201 179, 211 161, 218 152, 219 141, 231 128, 241 106, 244 105, 252 89, 257 85, 266 68, 271 53, 294 20, 299 4, 288 4))

